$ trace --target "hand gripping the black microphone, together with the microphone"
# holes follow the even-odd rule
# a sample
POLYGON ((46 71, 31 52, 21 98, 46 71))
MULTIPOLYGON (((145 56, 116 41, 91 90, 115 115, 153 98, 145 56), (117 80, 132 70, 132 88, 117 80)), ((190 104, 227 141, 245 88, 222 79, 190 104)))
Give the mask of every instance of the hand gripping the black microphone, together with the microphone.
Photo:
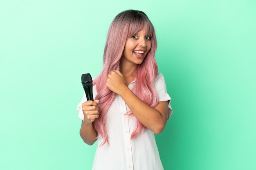
POLYGON ((99 117, 99 108, 97 107, 99 100, 93 101, 92 77, 90 73, 83 74, 81 80, 87 98, 87 101, 82 104, 84 123, 89 125, 99 117))

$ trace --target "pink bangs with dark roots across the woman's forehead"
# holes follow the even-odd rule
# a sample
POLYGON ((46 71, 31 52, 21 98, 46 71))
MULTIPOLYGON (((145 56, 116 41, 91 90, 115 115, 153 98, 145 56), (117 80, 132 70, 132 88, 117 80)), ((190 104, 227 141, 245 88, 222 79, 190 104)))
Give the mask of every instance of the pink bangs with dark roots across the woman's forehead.
POLYGON ((147 18, 144 18, 140 15, 136 15, 136 16, 134 16, 134 18, 132 18, 130 20, 130 26, 128 29, 128 37, 131 37, 132 35, 139 32, 143 28, 143 26, 146 27, 147 35, 152 37, 153 32, 154 32, 153 25, 147 18))

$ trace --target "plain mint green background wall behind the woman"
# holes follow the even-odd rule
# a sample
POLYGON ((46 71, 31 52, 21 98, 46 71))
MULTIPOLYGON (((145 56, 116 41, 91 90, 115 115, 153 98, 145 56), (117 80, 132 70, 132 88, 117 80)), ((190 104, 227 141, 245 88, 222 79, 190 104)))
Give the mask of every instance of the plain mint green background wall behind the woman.
POLYGON ((255 0, 1 0, 0 169, 91 169, 81 74, 100 73, 109 25, 126 9, 154 24, 173 99, 156 135, 165 170, 255 170, 255 0))

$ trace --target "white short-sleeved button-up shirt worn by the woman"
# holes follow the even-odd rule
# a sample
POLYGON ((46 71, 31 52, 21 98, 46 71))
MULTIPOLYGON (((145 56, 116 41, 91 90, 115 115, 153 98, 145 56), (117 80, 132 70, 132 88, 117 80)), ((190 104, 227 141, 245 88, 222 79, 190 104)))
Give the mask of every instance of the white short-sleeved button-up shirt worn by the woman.
MULTIPOLYGON (((131 82, 128 88, 136 83, 131 82)), ((164 76, 158 73, 155 80, 155 90, 159 102, 168 101, 168 118, 172 114, 171 97, 166 91, 164 76)), ((97 95, 95 86, 93 86, 93 95, 97 95)), ((86 101, 85 94, 82 101, 77 106, 78 117, 84 119, 81 104, 86 101)), ((109 144, 100 146, 103 138, 99 135, 98 146, 94 157, 92 170, 164 170, 158 148, 155 142, 154 132, 146 128, 144 132, 137 135, 132 140, 130 135, 136 126, 136 117, 125 115, 130 109, 119 96, 110 105, 106 114, 106 131, 108 133, 109 144)))

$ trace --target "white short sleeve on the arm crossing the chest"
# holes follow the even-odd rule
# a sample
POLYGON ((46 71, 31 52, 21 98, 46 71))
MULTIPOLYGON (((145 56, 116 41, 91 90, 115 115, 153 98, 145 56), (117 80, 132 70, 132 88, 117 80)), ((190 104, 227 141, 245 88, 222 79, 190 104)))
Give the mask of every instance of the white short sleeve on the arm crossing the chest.
POLYGON ((157 77, 155 80, 155 91, 157 92, 159 102, 161 101, 168 102, 168 119, 169 119, 173 113, 173 110, 170 104, 171 97, 167 93, 166 84, 165 84, 164 76, 162 75, 162 73, 157 74, 157 77))

